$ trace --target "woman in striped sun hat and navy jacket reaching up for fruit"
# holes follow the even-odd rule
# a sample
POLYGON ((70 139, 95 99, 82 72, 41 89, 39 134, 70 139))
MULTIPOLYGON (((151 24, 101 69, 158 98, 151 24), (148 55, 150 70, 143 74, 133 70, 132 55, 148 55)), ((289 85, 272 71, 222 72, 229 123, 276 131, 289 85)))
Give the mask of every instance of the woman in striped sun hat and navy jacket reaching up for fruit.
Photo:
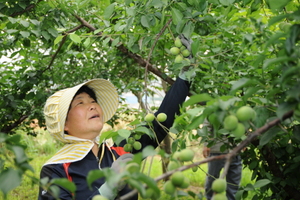
MULTIPOLYGON (((168 118, 163 126, 170 128, 179 107, 185 101, 189 92, 190 83, 177 78, 164 97, 157 113, 166 113, 168 118)), ((47 129, 53 137, 65 146, 48 160, 40 174, 40 178, 68 178, 76 185, 75 194, 60 188, 60 199, 76 200, 92 199, 101 194, 109 199, 122 196, 130 191, 125 186, 118 193, 109 191, 105 179, 93 182, 90 189, 86 182, 89 171, 119 165, 131 159, 131 154, 124 151, 125 142, 119 146, 98 144, 99 134, 104 123, 116 112, 118 107, 118 94, 115 87, 107 80, 94 79, 72 88, 60 90, 50 96, 44 107, 47 129)), ((157 141, 160 143, 167 133, 156 122, 153 122, 157 141)), ((148 145, 158 146, 156 139, 144 134, 138 140, 142 149, 148 145)), ((142 151, 139 150, 139 151, 142 151)), ((132 153, 139 152, 133 150, 132 153)), ((133 199, 137 199, 137 195, 133 199)), ((50 191, 40 188, 39 200, 55 199, 50 191)))

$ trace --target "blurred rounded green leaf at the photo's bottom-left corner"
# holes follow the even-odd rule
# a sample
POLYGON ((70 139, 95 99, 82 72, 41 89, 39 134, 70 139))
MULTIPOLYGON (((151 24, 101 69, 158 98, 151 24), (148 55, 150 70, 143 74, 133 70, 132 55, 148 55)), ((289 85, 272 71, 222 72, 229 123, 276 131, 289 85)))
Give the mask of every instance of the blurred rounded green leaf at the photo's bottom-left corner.
POLYGON ((21 184, 21 174, 12 168, 8 168, 0 173, 0 191, 7 194, 9 191, 21 184))

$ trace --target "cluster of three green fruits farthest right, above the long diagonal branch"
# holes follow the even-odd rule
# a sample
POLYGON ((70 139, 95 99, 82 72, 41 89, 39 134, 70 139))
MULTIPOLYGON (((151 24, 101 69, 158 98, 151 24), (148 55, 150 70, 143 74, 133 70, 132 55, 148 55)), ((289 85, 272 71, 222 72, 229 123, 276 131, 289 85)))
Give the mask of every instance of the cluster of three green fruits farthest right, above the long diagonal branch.
POLYGON ((254 120, 255 117, 256 112, 253 108, 242 106, 236 111, 235 115, 230 114, 224 118, 223 126, 234 137, 241 138, 246 132, 245 124, 250 120, 254 120))

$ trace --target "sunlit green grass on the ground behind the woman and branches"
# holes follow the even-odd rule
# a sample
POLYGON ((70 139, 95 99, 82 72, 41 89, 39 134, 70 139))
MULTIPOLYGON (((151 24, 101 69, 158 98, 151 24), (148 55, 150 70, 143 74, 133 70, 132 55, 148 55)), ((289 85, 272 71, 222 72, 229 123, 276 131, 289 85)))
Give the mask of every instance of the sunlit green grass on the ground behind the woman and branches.
MULTIPOLYGON (((23 177, 22 183, 20 186, 15 188, 8 194, 8 200, 33 200, 38 197, 38 179, 39 172, 43 166, 43 164, 62 146, 59 143, 56 143, 49 134, 46 134, 44 131, 40 131, 37 137, 33 137, 30 135, 22 134, 23 143, 28 146, 26 149, 26 154, 28 157, 32 158, 30 164, 34 169, 34 172, 27 172, 23 177)), ((202 152, 201 147, 196 149, 196 160, 201 160, 202 152)), ((146 159, 145 161, 145 169, 144 173, 149 175, 150 177, 156 178, 162 174, 162 165, 161 159, 158 156, 153 158, 152 164, 151 157, 146 159)), ((190 179, 190 187, 189 190, 194 192, 195 194, 204 195, 204 184, 205 177, 207 171, 207 164, 200 165, 200 169, 197 172, 193 172, 191 169, 184 171, 184 174, 190 179)), ((246 186, 248 183, 252 183, 251 180, 251 172, 249 169, 243 169, 241 185, 246 186)), ((161 191, 163 188, 164 181, 161 180, 158 182, 158 186, 161 191)), ((250 193, 247 199, 252 199, 253 194, 250 193)), ((0 192, 0 200, 3 199, 3 195, 0 192)), ((142 199, 142 198, 140 198, 142 199)), ((165 194, 163 191, 161 192, 160 199, 164 200, 173 200, 174 197, 171 197, 165 194)), ((180 197, 178 199, 189 200, 194 199, 191 196, 180 197)), ((201 198, 200 198, 201 199, 201 198)), ((202 199, 205 199, 204 197, 202 199)))

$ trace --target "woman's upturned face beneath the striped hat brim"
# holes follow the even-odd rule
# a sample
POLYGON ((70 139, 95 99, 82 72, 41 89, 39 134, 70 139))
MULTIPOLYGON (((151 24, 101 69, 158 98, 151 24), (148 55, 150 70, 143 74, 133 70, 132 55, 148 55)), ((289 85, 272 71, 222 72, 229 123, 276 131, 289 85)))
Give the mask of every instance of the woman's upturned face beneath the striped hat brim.
POLYGON ((69 135, 93 140, 103 124, 103 111, 93 98, 85 92, 74 97, 64 128, 69 135))

